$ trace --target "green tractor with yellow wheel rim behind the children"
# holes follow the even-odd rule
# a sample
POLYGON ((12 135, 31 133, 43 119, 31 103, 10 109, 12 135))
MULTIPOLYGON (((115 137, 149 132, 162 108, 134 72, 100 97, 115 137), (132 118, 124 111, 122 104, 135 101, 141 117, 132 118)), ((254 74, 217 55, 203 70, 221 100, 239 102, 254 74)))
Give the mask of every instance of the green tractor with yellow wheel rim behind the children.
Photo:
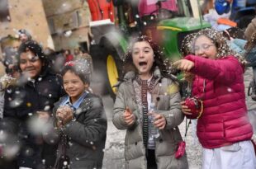
POLYGON ((115 84, 121 75, 124 54, 131 36, 138 32, 151 36, 164 47, 165 56, 175 60, 181 57, 179 49, 186 35, 211 27, 210 23, 201 20, 199 7, 191 5, 195 2, 198 4, 197 0, 174 1, 178 2, 178 12, 161 7, 161 3, 168 0, 155 2, 157 11, 141 17, 138 14, 138 4, 116 1, 119 21, 117 28, 110 21, 99 21, 98 24, 91 25, 92 34, 97 38, 92 42, 90 53, 95 75, 104 83, 101 94, 109 93, 115 98, 115 84))

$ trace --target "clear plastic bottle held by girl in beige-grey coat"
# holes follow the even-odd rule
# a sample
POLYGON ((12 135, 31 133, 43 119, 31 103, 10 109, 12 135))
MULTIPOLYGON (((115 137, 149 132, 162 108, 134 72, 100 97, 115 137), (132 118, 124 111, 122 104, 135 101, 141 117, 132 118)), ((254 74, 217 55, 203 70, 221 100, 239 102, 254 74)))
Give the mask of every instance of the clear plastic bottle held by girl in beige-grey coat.
POLYGON ((149 109, 149 138, 158 138, 159 137, 159 129, 154 126, 154 115, 151 113, 156 113, 156 107, 154 102, 150 104, 149 109))

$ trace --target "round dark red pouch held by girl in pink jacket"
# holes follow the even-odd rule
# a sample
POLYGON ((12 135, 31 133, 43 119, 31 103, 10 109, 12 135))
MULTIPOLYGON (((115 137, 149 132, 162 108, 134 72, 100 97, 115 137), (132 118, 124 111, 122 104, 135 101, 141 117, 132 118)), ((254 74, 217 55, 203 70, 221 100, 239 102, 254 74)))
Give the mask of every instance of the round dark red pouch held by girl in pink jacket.
POLYGON ((192 115, 186 115, 187 119, 198 119, 201 116, 203 110, 203 103, 201 100, 196 97, 187 97, 185 106, 187 106, 192 113, 192 115))

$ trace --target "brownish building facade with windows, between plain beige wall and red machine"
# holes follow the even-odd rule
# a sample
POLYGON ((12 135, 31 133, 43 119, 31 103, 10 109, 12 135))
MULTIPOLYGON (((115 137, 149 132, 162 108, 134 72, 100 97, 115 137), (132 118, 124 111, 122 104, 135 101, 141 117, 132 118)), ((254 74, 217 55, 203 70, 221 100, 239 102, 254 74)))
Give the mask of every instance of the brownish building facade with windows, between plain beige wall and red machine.
POLYGON ((89 47, 91 14, 83 0, 43 0, 55 50, 89 47))

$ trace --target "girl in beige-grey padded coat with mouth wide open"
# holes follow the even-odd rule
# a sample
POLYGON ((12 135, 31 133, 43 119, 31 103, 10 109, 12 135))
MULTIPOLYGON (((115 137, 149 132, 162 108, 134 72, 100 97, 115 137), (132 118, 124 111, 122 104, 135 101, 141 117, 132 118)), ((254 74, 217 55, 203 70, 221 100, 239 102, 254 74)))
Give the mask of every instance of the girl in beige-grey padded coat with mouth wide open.
POLYGON ((168 78, 163 52, 147 36, 136 38, 126 53, 124 73, 114 105, 113 123, 126 129, 126 168, 187 168, 187 155, 175 158, 183 141, 178 129, 184 118, 178 85, 168 78), (150 104, 151 103, 151 104, 150 104), (149 113, 149 107, 156 110, 149 113), (149 116, 159 137, 149 128, 149 116))

